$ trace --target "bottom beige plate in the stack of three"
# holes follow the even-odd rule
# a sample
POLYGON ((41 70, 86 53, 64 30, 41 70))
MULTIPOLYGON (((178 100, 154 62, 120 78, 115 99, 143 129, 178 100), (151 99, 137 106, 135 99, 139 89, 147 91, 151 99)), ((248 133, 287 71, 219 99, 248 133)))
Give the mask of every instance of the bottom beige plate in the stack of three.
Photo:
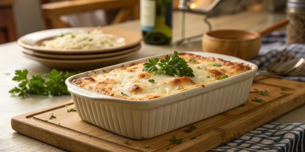
POLYGON ((121 59, 136 54, 138 50, 114 57, 105 57, 98 59, 83 59, 83 60, 67 60, 67 59, 48 59, 35 57, 25 54, 21 51, 21 55, 31 60, 36 60, 47 67, 66 70, 93 70, 100 67, 106 67, 121 63, 121 59))

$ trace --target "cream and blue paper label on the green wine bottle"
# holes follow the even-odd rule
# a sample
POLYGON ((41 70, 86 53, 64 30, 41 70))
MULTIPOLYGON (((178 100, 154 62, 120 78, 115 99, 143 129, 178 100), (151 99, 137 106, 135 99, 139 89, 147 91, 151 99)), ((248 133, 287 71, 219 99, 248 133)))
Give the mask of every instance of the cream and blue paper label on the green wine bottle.
POLYGON ((140 0, 140 24, 142 31, 153 31, 156 26, 156 1, 140 0))

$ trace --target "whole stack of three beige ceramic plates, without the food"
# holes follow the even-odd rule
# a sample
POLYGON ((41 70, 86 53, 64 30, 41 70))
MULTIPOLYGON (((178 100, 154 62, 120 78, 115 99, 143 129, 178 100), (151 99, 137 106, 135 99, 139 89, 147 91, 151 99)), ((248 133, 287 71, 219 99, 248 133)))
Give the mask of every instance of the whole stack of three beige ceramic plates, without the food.
POLYGON ((142 35, 123 29, 98 28, 121 45, 101 49, 53 49, 41 47, 42 42, 51 40, 63 33, 75 33, 80 30, 92 31, 97 27, 49 29, 22 36, 17 43, 23 47, 23 57, 41 62, 57 69, 96 69, 121 63, 120 60, 136 54, 141 48, 142 35))

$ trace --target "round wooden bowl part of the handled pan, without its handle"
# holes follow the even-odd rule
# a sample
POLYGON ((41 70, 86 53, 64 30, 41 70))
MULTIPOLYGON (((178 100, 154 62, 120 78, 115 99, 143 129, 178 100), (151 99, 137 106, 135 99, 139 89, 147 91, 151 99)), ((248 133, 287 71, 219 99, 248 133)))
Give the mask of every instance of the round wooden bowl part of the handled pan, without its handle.
POLYGON ((225 29, 204 33, 202 50, 250 60, 260 50, 260 33, 246 30, 225 29))

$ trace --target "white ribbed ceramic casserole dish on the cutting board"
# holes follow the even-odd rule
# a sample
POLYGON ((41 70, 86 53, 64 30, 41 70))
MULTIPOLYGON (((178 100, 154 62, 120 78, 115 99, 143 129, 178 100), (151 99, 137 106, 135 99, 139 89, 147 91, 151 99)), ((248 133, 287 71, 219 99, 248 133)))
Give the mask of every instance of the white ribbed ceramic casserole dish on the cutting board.
POLYGON ((130 67, 134 64, 148 62, 148 59, 165 57, 168 53, 84 72, 66 80, 78 115, 84 121, 113 133, 132 139, 149 139, 215 116, 246 102, 253 76, 257 72, 256 64, 222 54, 185 53, 243 62, 249 64, 252 69, 206 84, 205 87, 199 86, 149 100, 114 98, 81 88, 72 84, 71 81, 102 73, 103 70, 111 71, 123 65, 130 67))

